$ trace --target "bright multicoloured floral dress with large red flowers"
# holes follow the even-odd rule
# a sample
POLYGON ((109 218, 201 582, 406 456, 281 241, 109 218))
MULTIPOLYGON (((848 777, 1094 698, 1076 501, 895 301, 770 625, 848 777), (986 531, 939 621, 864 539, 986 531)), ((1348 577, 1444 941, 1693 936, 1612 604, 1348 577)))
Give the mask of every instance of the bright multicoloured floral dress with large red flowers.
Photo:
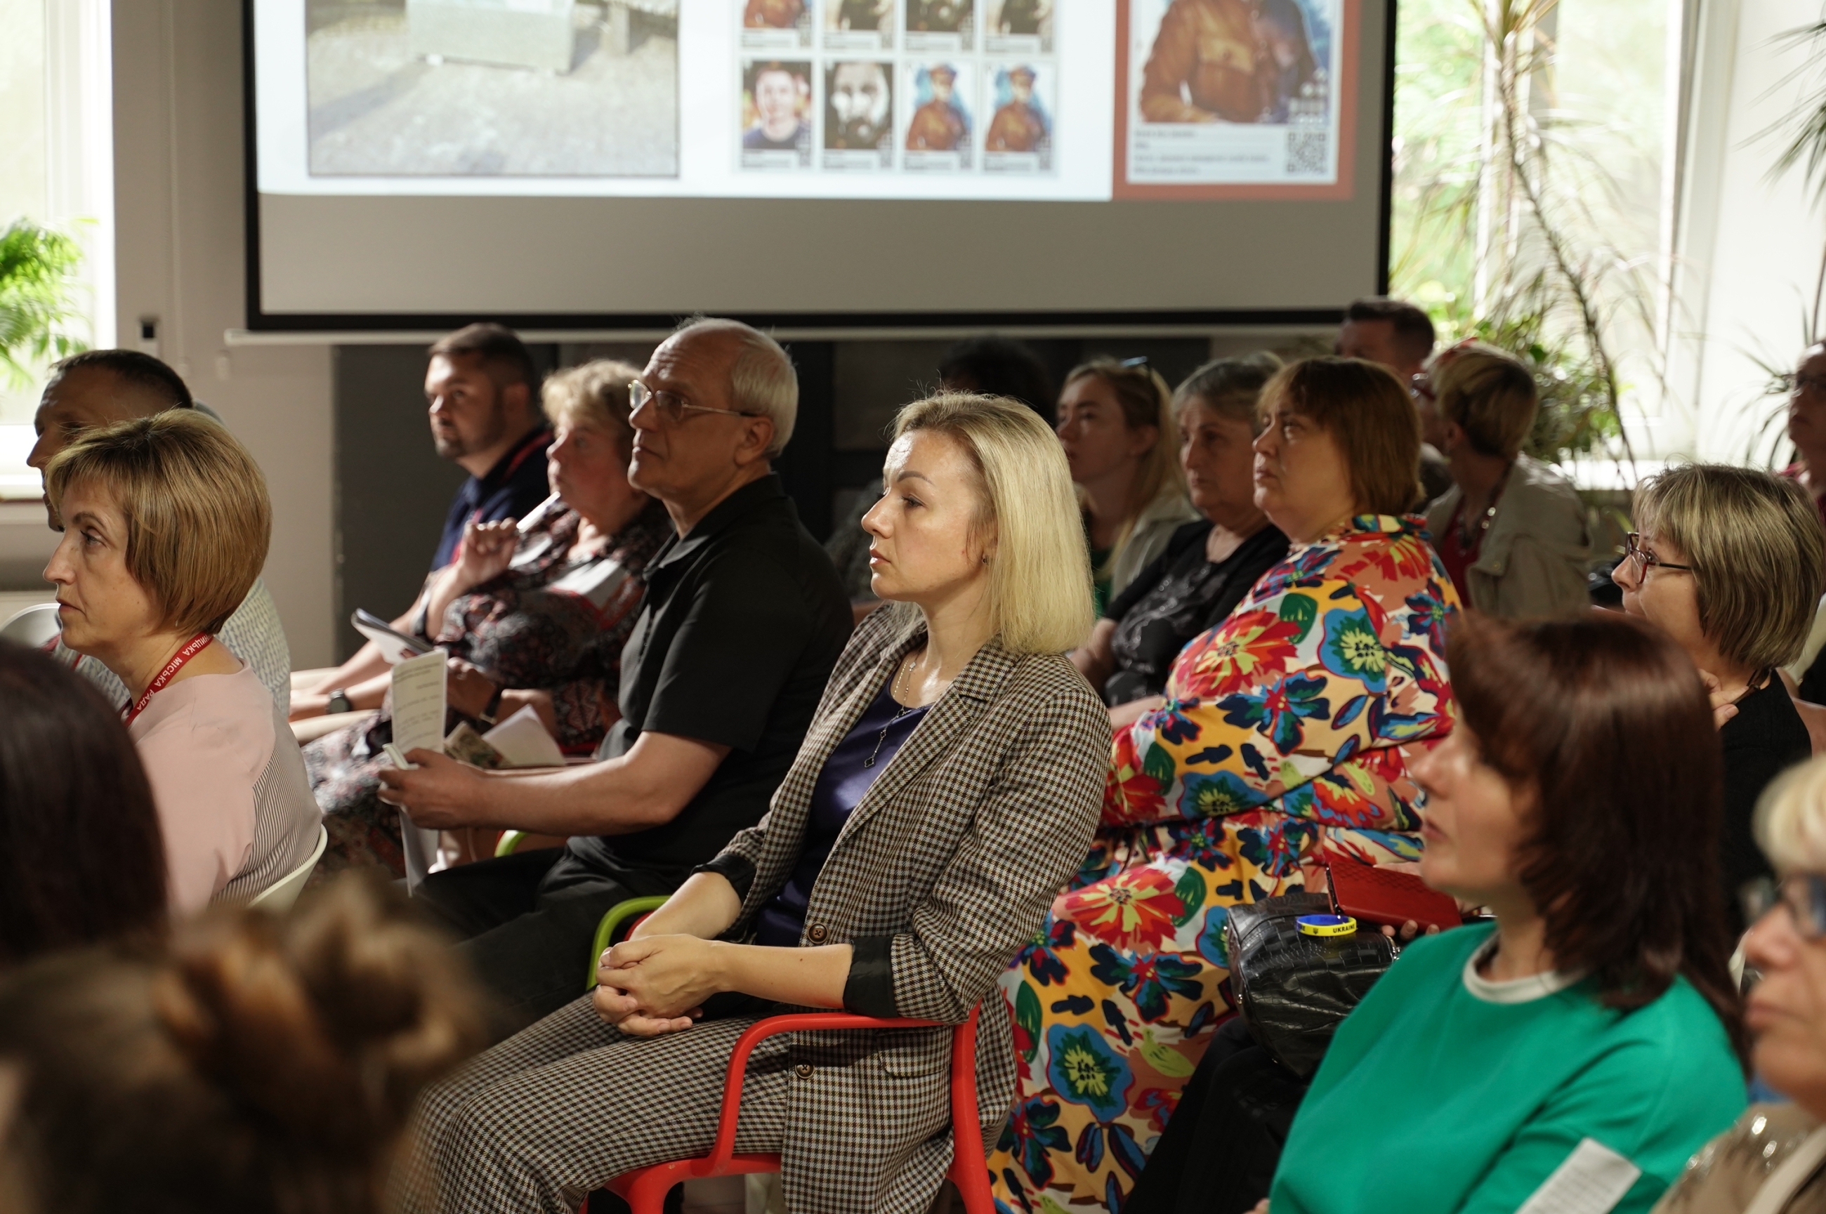
POLYGON ((1459 599, 1419 518, 1362 515, 1262 575, 1116 730, 1103 825, 1002 975, 1019 1086, 997 1210, 1121 1210, 1231 1015, 1231 905, 1302 887, 1320 847, 1419 856, 1413 747, 1452 727, 1459 599))

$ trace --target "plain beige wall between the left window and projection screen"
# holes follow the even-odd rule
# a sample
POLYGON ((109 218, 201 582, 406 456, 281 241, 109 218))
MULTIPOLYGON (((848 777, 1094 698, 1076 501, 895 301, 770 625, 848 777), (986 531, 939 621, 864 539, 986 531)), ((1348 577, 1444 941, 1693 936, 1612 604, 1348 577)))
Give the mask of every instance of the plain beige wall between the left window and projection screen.
POLYGON ((115 0, 117 319, 131 345, 159 318, 159 354, 267 473, 267 586, 294 668, 332 661, 334 511, 329 347, 239 347, 245 323, 241 5, 115 0))

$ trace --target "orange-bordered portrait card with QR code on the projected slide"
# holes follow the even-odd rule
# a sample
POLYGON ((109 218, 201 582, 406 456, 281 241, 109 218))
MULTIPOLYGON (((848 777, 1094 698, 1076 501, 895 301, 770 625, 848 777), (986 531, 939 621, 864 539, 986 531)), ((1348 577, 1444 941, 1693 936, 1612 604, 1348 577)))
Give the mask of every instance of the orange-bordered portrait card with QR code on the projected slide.
POLYGON ((1118 0, 1118 197, 1349 190, 1346 0, 1118 0))

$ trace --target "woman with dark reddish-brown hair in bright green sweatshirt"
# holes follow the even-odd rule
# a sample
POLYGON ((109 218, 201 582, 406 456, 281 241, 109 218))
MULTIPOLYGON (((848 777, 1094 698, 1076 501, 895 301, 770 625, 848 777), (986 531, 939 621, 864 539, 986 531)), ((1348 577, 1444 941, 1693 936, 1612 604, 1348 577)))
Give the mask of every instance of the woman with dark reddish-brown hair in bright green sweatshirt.
POLYGON ((1468 617, 1448 661, 1421 874, 1495 926, 1417 940, 1344 1020, 1269 1205, 1645 1212, 1744 1108, 1705 688, 1621 617, 1468 617))

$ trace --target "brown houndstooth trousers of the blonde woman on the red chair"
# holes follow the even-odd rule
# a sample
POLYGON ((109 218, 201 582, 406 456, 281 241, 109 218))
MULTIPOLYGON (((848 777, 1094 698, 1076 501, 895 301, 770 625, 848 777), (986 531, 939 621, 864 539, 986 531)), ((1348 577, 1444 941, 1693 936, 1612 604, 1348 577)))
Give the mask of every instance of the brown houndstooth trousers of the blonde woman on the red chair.
MULTIPOLYGON (((708 1154, 736 1037, 756 1017, 628 1037, 579 999, 429 1088, 413 1115, 404 1214, 570 1214, 612 1176, 708 1154)), ((738 1152, 778 1152, 787 1039, 754 1048, 738 1152)))

